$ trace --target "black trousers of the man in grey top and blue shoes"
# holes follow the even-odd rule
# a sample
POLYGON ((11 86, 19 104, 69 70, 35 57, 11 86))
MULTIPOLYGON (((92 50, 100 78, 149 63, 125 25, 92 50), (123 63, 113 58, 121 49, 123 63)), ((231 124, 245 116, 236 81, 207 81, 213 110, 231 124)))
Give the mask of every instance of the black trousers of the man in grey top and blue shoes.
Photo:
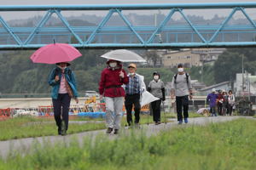
POLYGON ((189 117, 189 96, 176 96, 177 121, 189 117))

